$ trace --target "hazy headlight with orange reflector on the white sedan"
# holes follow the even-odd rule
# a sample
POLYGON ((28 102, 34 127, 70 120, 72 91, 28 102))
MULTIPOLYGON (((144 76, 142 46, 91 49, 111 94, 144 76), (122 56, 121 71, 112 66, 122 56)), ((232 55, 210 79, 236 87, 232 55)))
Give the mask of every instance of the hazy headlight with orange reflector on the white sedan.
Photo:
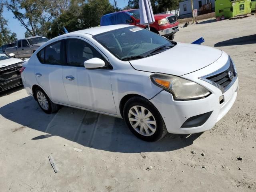
POLYGON ((203 86, 181 77, 155 73, 150 76, 152 82, 174 96, 174 100, 194 100, 205 98, 211 92, 203 86))

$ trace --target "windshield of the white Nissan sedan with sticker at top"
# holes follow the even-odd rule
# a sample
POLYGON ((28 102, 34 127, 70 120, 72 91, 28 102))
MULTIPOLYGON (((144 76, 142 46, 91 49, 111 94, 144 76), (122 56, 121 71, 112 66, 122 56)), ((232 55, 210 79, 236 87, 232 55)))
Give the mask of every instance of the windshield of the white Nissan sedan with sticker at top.
POLYGON ((120 60, 148 57, 176 45, 154 32, 133 26, 98 34, 94 39, 120 60))

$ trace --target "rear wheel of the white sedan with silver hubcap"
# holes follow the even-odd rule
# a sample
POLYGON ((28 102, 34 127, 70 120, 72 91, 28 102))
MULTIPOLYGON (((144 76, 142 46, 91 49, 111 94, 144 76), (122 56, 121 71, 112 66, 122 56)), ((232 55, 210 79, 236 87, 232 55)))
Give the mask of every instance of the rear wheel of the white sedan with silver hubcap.
POLYGON ((51 114, 59 110, 59 105, 54 104, 41 88, 36 89, 35 96, 38 105, 45 113, 51 114))

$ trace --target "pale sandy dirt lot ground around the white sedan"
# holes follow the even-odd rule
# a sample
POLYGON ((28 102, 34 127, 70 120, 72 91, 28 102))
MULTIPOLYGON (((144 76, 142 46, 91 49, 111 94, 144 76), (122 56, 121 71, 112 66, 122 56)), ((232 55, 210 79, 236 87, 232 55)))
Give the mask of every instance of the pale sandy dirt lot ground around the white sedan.
POLYGON ((180 28, 174 40, 192 42, 201 36, 204 45, 232 56, 240 80, 234 106, 212 130, 143 142, 121 119, 68 107, 44 114, 24 89, 15 88, 0 93, 0 191, 256 190, 255 16, 201 21, 180 28))

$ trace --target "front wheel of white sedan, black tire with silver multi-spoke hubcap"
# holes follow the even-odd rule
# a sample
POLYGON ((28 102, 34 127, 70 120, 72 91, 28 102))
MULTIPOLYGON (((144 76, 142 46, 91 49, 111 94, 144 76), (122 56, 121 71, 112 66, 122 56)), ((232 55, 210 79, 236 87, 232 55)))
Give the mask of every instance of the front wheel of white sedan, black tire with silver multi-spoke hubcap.
POLYGON ((123 116, 131 132, 144 141, 154 142, 160 140, 167 133, 161 114, 145 98, 139 96, 130 98, 124 105, 123 116))

